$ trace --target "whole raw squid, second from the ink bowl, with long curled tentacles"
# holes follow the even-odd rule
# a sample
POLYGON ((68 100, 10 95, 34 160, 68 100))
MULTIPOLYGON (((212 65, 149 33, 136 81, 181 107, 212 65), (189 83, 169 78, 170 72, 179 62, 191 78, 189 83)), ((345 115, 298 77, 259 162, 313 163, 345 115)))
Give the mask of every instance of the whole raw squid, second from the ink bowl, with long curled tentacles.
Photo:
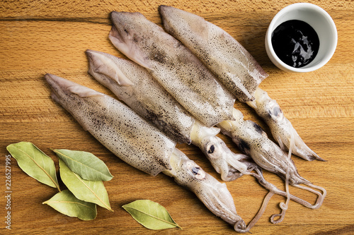
MULTIPOLYGON (((231 136, 240 150, 249 154, 263 169, 278 174, 282 179, 289 178, 294 186, 316 193, 318 195, 316 203, 308 207, 318 208, 321 205, 326 195, 324 188, 313 186, 299 176, 292 160, 278 145, 268 139, 260 126, 252 121, 243 121, 243 116, 239 119, 239 112, 234 111, 230 93, 223 85, 217 83, 214 74, 207 73, 204 64, 195 59, 195 55, 181 42, 140 13, 113 12, 111 18, 113 26, 109 38, 120 52, 147 68, 152 76, 196 119, 206 126, 217 124, 222 128, 222 132, 231 136), (195 70, 192 70, 193 68, 195 70), (210 90, 217 92, 210 92, 210 90), (227 102, 223 102, 223 106, 220 107, 217 105, 219 100, 227 100, 227 102), (203 102, 208 105, 203 105, 203 102), (195 115, 195 110, 198 110, 198 115, 195 115), (231 116, 230 112, 232 112, 231 116), (212 119, 213 121, 200 119, 200 116, 210 114, 217 114, 218 118, 212 119), (242 126, 243 123, 247 124, 246 127, 242 126), (319 189, 322 193, 299 186, 299 183, 319 189)), ((287 195, 290 198, 289 193, 287 195)))

